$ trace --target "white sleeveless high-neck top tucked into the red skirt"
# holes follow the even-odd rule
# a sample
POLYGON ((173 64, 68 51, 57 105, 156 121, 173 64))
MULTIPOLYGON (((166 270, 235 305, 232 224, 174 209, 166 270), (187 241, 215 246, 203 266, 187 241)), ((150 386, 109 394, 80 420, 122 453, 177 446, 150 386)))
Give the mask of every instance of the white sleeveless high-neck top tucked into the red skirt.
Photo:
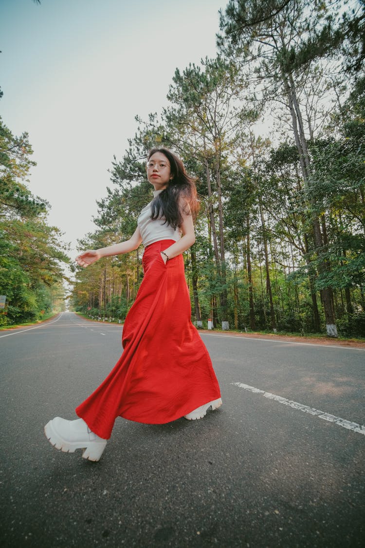
MULTIPOLYGON (((153 197, 159 195, 164 189, 154 190, 153 197)), ((151 203, 147 204, 144 207, 138 216, 137 225, 140 229, 140 234, 142 236, 142 243, 144 247, 149 246, 154 242, 159 242, 161 239, 172 239, 177 242, 181 238, 181 231, 177 228, 176 230, 172 228, 164 218, 160 219, 151 219, 151 203), (164 224, 165 222, 165 224, 164 224)))

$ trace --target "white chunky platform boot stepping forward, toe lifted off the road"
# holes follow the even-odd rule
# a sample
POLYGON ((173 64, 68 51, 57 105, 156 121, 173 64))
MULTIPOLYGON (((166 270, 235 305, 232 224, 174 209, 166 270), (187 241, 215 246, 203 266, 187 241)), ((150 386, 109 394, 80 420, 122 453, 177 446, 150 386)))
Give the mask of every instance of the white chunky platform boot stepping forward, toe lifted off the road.
POLYGON ((64 453, 83 449, 83 458, 98 461, 106 447, 107 440, 91 432, 83 419, 66 420, 56 416, 44 427, 49 442, 64 453))

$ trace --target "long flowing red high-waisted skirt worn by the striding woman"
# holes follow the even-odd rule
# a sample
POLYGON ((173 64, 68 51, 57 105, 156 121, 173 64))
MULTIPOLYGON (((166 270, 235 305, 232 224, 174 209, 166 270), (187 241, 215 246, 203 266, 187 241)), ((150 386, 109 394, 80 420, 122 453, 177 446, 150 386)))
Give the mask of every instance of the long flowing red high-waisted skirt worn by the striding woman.
POLYGON ((144 277, 125 318, 123 354, 103 383, 76 408, 101 438, 115 418, 165 424, 221 397, 212 362, 191 322, 182 255, 164 263, 162 240, 143 253, 144 277))

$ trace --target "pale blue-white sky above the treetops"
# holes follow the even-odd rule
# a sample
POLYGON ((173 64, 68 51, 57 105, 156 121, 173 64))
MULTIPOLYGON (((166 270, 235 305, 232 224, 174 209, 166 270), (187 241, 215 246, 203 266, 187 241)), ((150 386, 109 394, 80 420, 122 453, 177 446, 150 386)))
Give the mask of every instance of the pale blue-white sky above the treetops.
POLYGON ((94 232, 96 200, 146 119, 167 105, 175 69, 214 58, 226 0, 0 0, 0 115, 28 132, 27 186, 63 241, 94 232))

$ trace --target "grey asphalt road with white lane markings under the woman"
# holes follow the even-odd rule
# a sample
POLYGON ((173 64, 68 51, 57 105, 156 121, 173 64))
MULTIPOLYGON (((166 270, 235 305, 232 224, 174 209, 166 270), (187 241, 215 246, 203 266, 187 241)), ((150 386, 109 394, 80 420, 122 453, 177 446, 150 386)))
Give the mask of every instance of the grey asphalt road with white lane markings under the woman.
POLYGON ((365 545, 364 350, 202 334, 220 409, 118 418, 99 463, 56 451, 44 424, 76 418, 120 338, 71 313, 0 332, 2 547, 365 545))

